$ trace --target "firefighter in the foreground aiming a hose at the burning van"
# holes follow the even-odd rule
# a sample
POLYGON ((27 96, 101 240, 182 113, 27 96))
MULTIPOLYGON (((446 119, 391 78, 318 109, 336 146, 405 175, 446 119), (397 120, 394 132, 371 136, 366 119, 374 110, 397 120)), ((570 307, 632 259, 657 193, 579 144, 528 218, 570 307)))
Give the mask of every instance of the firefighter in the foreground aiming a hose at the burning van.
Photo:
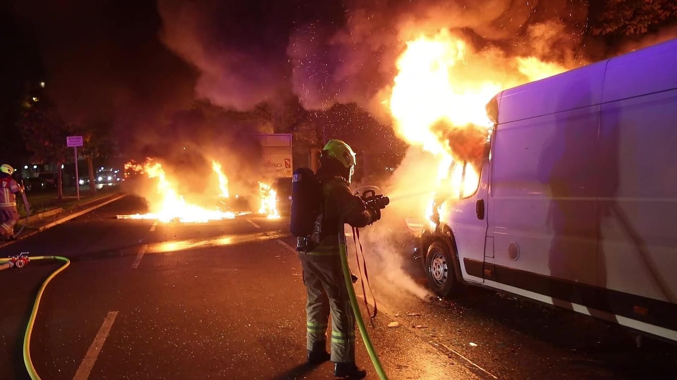
POLYGON ((365 227, 380 219, 380 210, 369 208, 353 195, 349 185, 355 170, 355 153, 338 139, 328 141, 317 172, 323 194, 320 243, 310 252, 299 252, 303 283, 307 289, 307 349, 309 364, 331 359, 334 376, 362 379, 366 371, 355 365, 355 315, 341 269, 340 220, 365 227), (326 351, 329 315, 332 316, 331 354, 326 351))

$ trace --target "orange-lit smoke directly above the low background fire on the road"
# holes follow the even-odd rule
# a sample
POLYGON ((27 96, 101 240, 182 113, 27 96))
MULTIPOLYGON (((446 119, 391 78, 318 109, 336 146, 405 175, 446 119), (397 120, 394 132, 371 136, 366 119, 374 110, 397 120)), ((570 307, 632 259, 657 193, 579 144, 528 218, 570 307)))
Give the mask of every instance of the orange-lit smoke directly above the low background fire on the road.
POLYGON ((134 157, 137 162, 154 158, 165 171, 179 179, 179 193, 213 195, 212 160, 223 166, 234 193, 250 191, 257 181, 261 147, 255 137, 257 120, 253 115, 223 110, 206 102, 169 115, 161 130, 146 130, 143 145, 134 157))

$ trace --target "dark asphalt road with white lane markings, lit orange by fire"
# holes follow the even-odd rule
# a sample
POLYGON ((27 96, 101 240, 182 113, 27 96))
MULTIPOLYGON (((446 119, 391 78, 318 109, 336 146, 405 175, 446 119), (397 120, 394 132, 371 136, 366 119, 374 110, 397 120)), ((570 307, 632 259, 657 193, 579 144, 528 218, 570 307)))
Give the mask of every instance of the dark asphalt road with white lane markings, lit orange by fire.
MULTIPOLYGON (((136 212, 143 201, 125 197, 0 249, 72 260, 35 325, 43 379, 333 378, 330 363, 303 364, 305 289, 284 218, 115 218, 136 212)), ((636 348, 618 327, 483 289, 422 298, 418 263, 397 257, 395 281, 392 263, 368 255, 379 308, 368 329, 390 379, 677 379, 675 346, 645 339, 636 348)), ((0 379, 28 379, 26 320, 58 265, 0 272, 0 379)), ((378 378, 361 340, 357 361, 378 378)))

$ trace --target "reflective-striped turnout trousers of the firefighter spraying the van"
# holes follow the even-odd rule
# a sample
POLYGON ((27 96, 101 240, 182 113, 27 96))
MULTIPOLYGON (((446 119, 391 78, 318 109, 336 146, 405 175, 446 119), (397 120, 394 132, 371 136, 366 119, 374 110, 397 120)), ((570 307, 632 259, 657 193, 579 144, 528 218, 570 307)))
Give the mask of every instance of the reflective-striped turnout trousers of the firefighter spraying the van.
POLYGON ((354 362, 355 315, 350 305, 339 252, 301 252, 299 258, 308 295, 305 306, 308 350, 313 350, 318 343, 326 342, 331 314, 331 360, 354 362))

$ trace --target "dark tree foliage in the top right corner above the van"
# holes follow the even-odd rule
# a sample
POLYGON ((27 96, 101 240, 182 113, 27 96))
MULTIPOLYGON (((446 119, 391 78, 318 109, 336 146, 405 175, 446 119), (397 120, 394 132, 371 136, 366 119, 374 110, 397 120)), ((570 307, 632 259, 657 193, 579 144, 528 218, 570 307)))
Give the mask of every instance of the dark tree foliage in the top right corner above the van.
POLYGON ((590 1, 588 32, 592 35, 631 35, 674 23, 675 0, 590 1))

